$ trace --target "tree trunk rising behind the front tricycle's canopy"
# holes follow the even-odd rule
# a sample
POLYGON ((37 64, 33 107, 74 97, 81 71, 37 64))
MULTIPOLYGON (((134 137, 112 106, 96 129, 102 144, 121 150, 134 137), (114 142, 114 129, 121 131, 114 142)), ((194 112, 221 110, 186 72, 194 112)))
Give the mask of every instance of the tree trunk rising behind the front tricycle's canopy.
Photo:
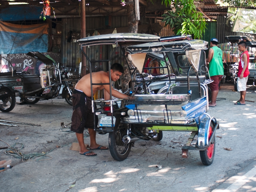
MULTIPOLYGON (((129 26, 129 33, 138 33, 138 20, 135 17, 135 3, 134 0, 127 0, 127 15, 128 15, 128 26, 129 26)), ((129 62, 129 60, 128 60, 129 62)), ((129 83, 131 81, 130 70, 128 68, 128 63, 126 60, 124 61, 124 73, 121 76, 122 80, 122 91, 126 92, 129 89, 129 83)))

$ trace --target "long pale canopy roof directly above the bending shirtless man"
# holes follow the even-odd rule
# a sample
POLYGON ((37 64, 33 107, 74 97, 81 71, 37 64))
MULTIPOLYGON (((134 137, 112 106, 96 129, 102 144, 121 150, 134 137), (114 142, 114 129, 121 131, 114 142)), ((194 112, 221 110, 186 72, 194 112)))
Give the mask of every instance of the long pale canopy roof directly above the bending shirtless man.
POLYGON ((82 47, 88 45, 99 45, 99 44, 116 44, 116 42, 160 42, 160 37, 148 34, 139 33, 114 33, 106 35, 97 35, 85 37, 77 40, 82 47))

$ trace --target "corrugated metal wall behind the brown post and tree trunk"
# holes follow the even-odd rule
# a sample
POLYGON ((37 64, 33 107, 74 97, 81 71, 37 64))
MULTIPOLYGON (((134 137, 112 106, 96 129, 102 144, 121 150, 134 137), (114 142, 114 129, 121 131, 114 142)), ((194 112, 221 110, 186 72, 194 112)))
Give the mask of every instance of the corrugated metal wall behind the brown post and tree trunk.
MULTIPOLYGON (((148 18, 141 17, 140 18, 141 24, 149 23, 148 18)), ((160 23, 161 24, 161 23, 160 23)), ((164 25, 162 23, 161 25, 164 25)), ((108 28, 119 28, 119 27, 127 27, 128 26, 128 19, 127 16, 115 16, 112 17, 112 23, 111 26, 108 28)), ((105 26, 105 17, 88 17, 86 18, 86 30, 100 30, 104 29, 105 26)), ((63 18, 62 19, 62 49, 61 49, 61 58, 62 58, 62 64, 65 65, 65 67, 76 67, 78 68, 79 63, 81 62, 81 50, 78 43, 68 43, 67 42, 67 35, 69 31, 73 32, 80 32, 81 29, 81 21, 80 18, 63 18)), ((165 30, 161 32, 160 36, 169 36, 173 35, 173 32, 171 29, 167 27, 164 28, 165 30)), ((106 56, 108 58, 114 51, 114 48, 112 45, 96 45, 96 46, 90 46, 89 48, 86 47, 86 54, 89 55, 89 58, 97 58, 104 59, 106 56)), ((121 49, 118 47, 115 55, 113 57, 114 59, 111 61, 111 63, 118 62, 123 65, 124 63, 124 56, 122 54, 121 49)), ((88 62, 86 63, 88 66, 88 62)), ((102 65, 102 63, 93 64, 93 70, 92 71, 99 71, 99 70, 106 70, 102 65)))

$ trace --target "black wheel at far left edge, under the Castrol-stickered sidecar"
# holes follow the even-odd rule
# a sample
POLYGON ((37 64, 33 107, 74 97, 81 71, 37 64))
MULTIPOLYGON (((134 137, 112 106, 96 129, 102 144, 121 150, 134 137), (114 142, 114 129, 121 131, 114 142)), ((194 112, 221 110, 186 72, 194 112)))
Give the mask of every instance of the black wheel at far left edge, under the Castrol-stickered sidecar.
MULTIPOLYGON (((11 93, 12 91, 7 88, 0 88, 0 98, 1 95, 11 93)), ((2 98, 3 99, 3 98, 2 98)), ((16 104, 16 97, 14 94, 10 94, 4 97, 3 100, 0 100, 0 111, 2 112, 10 112, 16 104)))

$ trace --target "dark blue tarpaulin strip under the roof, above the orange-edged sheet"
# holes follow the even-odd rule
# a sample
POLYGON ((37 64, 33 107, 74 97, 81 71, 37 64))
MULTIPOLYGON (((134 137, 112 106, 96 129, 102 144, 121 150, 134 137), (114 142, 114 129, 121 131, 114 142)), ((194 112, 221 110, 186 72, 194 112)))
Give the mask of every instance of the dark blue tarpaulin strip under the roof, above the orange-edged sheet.
MULTIPOLYGON (((23 21, 23 20, 39 20, 42 7, 37 6, 13 6, 0 10, 1 21, 23 21)), ((46 18, 50 18, 46 16, 46 18)))

